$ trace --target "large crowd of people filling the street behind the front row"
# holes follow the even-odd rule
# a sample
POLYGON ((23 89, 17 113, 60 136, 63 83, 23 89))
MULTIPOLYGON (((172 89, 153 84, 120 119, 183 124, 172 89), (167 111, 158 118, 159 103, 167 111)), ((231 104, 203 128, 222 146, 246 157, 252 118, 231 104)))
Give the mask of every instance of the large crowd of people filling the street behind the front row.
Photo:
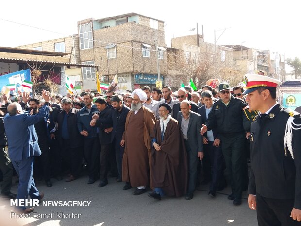
MULTIPOLYGON (((248 189, 250 142, 259 133, 251 123, 257 122, 260 109, 248 105, 254 88, 224 82, 217 89, 203 86, 197 91, 144 86, 125 93, 85 90, 78 96, 45 90, 35 97, 3 94, 2 194, 42 199, 33 178, 51 187, 51 178, 62 180, 66 174, 66 182, 74 181, 85 166, 87 184, 99 180, 98 187, 104 187, 108 176, 115 177, 125 182, 123 190, 134 187, 133 195, 151 188, 148 196, 156 200, 183 195, 190 200, 199 184, 208 184, 214 198, 228 184, 228 199, 240 205, 248 189), (10 191, 12 165, 19 175, 17 194, 10 191)), ((298 155, 300 151, 295 155, 300 159, 298 155)), ((256 170, 252 178, 258 176, 256 170)))

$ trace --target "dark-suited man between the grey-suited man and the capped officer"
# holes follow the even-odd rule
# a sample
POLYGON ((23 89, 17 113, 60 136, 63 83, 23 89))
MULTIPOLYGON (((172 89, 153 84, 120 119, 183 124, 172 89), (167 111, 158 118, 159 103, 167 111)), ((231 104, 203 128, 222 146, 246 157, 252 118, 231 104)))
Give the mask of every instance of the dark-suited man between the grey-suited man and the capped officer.
MULTIPOLYGON (((211 91, 205 90, 201 97, 204 105, 198 109, 202 124, 205 124, 208 114, 212 109, 213 95, 211 91)), ((204 158, 202 160, 205 180, 210 181, 209 195, 216 196, 217 186, 222 179, 223 154, 221 150, 220 135, 216 129, 209 130, 203 135, 204 158)), ((222 185, 220 185, 222 186, 222 185)))

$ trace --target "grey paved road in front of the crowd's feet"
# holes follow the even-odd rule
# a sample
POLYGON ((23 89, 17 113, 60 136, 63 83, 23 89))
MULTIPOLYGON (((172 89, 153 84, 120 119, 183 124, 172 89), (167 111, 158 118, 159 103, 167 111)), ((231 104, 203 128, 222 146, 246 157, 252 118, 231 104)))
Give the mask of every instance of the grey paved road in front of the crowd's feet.
MULTIPOLYGON (((243 199, 240 206, 234 206, 227 199, 229 186, 220 191, 216 198, 210 198, 206 190, 200 187, 192 200, 181 198, 164 198, 153 200, 144 193, 132 195, 134 189, 123 191, 123 182, 114 178, 103 188, 96 182, 86 184, 87 176, 72 182, 52 179, 53 187, 37 182, 37 187, 45 193, 44 201, 91 201, 90 207, 36 207, 34 212, 54 213, 53 219, 37 219, 31 214, 17 220, 25 226, 257 226, 256 212, 248 208, 243 199), (81 219, 59 219, 56 213, 81 214, 81 219)), ((12 191, 17 191, 14 184, 12 191)), ((247 198, 246 193, 243 194, 247 198)), ((9 200, 4 200, 0 208, 13 211, 9 200)), ((0 210, 2 211, 2 210, 0 210)), ((4 211, 3 211, 4 212, 4 211)), ((10 212, 6 213, 10 217, 10 212)), ((2 223, 3 224, 3 223, 2 223)), ((2 225, 0 222, 0 225, 2 225)), ((7 225, 6 225, 7 226, 7 225)))

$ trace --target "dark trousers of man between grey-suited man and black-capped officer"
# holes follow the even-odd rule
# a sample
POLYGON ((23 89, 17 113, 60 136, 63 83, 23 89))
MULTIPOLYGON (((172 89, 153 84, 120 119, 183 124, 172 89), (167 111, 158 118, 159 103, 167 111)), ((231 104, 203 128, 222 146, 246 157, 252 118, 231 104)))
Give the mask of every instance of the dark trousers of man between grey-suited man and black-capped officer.
POLYGON ((204 157, 205 154, 210 158, 212 180, 210 183, 210 191, 217 191, 217 186, 222 179, 223 172, 223 153, 221 147, 213 146, 213 142, 208 141, 204 144, 204 157))

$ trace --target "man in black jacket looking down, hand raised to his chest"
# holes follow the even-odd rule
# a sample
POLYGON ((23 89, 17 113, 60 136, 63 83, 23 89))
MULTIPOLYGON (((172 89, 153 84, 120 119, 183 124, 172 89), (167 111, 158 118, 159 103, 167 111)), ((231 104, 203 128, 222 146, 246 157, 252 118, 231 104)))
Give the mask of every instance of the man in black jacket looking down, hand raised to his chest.
POLYGON ((105 123, 97 121, 95 118, 106 119, 111 115, 111 108, 107 106, 107 102, 103 97, 99 97, 95 100, 94 104, 100 111, 94 115, 90 125, 98 127, 98 137, 100 139, 100 183, 98 187, 104 187, 108 184, 108 158, 112 151, 111 134, 112 123, 105 123))

